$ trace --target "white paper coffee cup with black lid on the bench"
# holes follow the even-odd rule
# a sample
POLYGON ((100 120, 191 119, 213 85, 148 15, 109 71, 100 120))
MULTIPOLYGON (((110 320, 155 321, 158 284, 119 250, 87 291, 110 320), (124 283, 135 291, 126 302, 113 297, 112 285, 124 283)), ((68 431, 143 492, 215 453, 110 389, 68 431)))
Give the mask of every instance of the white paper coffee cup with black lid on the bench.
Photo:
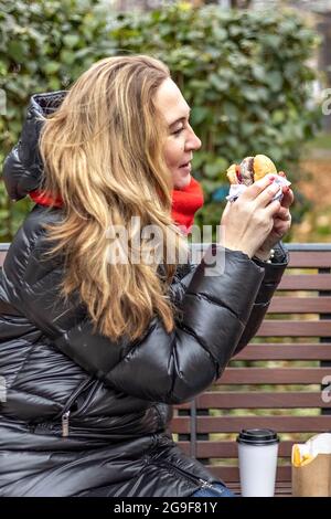
POLYGON ((279 437, 269 428, 245 428, 238 437, 239 475, 243 497, 273 497, 279 437))

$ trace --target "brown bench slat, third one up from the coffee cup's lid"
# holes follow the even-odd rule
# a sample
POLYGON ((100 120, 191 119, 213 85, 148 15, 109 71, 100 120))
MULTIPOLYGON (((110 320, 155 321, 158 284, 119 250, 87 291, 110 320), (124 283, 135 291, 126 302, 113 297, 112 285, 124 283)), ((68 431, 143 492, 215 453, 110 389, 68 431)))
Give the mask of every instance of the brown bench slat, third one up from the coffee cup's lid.
POLYGON ((330 368, 227 368, 217 384, 321 384, 330 368))

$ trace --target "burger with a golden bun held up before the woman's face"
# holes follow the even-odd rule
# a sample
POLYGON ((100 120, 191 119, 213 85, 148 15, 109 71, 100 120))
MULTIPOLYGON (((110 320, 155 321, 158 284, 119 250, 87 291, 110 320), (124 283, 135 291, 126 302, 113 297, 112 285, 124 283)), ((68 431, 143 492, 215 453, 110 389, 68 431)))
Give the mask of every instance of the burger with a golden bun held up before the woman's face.
POLYGON ((277 174, 276 166, 266 155, 246 157, 239 165, 233 163, 226 176, 231 184, 252 186, 268 173, 277 174))

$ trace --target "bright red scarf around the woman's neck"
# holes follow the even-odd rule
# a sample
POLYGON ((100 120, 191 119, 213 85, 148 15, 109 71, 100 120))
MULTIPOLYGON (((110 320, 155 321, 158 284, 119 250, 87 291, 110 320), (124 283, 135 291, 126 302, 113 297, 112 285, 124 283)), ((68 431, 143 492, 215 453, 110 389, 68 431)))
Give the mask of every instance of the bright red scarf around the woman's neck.
MULTIPOLYGON (((43 193, 38 189, 31 191, 31 199, 41 205, 53 205, 61 208, 63 205, 62 199, 53 199, 47 193, 43 193)), ((185 234, 189 234, 194 222, 194 214, 203 205, 203 191, 200 183, 191 178, 191 182, 183 189, 174 189, 172 191, 172 219, 182 229, 185 234)))

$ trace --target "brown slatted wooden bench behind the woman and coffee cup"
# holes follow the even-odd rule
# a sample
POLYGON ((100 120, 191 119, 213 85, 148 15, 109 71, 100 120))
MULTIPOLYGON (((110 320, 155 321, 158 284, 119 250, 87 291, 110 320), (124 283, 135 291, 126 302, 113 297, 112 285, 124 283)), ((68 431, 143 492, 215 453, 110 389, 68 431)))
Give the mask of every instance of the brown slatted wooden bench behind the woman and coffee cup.
MULTIPOLYGON (((0 244, 0 266, 7 244, 0 244)), ((291 494, 291 446, 331 430, 331 245, 290 244, 290 265, 254 341, 209 391, 174 410, 180 446, 239 492, 242 428, 280 435, 276 494, 291 494), (325 399, 324 399, 325 400, 325 399), (329 399, 330 400, 330 399, 329 399)))

